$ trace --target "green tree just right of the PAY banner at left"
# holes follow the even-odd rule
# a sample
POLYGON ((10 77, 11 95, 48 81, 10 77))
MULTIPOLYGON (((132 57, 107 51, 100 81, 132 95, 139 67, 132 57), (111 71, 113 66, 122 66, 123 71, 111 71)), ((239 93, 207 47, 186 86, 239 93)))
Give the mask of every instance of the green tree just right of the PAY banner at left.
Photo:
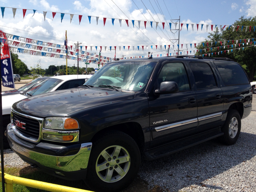
POLYGON ((18 54, 11 53, 11 57, 13 74, 19 74, 20 76, 23 76, 29 71, 28 66, 19 59, 18 54))

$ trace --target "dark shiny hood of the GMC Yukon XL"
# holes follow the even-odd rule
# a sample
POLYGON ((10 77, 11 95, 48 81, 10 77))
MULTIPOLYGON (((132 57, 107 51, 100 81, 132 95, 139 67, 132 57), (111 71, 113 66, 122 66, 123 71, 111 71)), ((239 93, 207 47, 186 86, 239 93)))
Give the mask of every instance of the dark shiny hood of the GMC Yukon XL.
POLYGON ((108 89, 75 88, 32 96, 13 104, 12 108, 36 117, 67 116, 86 108, 134 98, 135 93, 108 89))

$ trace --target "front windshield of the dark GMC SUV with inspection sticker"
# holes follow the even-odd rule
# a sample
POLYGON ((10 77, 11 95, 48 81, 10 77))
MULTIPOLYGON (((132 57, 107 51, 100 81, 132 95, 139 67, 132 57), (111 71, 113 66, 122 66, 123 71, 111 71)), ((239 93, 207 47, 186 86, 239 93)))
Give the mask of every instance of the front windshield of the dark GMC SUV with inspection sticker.
POLYGON ((118 90, 143 91, 148 84, 156 62, 117 62, 108 64, 94 74, 86 85, 115 86, 118 90))

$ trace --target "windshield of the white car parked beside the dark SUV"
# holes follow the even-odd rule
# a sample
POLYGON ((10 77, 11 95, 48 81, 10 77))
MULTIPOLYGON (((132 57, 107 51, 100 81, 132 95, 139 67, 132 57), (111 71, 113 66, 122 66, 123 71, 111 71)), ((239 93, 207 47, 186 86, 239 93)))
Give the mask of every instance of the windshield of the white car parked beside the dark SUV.
POLYGON ((62 80, 49 78, 49 79, 46 79, 45 81, 38 83, 37 86, 33 87, 31 90, 29 90, 26 93, 30 96, 47 93, 50 90, 52 90, 56 85, 58 85, 60 82, 62 82, 62 80))

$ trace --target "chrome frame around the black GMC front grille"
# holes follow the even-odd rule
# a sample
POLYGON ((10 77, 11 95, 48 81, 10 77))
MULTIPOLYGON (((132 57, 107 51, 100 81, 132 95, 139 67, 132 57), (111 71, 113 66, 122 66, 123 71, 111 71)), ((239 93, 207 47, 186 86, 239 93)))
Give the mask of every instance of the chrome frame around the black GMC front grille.
POLYGON ((14 109, 12 109, 12 111, 11 111, 11 116, 13 116, 12 113, 16 113, 16 114, 18 114, 18 115, 20 115, 20 116, 23 116, 23 117, 26 117, 26 118, 38 120, 39 126, 40 126, 38 139, 24 136, 22 133, 20 133, 20 132, 16 129, 16 127, 14 126, 14 124, 12 124, 12 129, 13 129, 14 133, 15 133, 18 137, 20 137, 20 138, 22 138, 22 139, 24 139, 24 140, 30 141, 30 142, 38 143, 38 142, 41 140, 42 128, 43 128, 43 125, 44 125, 44 119, 43 119, 43 118, 38 118, 38 117, 33 117, 33 116, 30 116, 30 115, 26 115, 26 114, 22 114, 22 113, 20 113, 20 112, 15 111, 14 109))

